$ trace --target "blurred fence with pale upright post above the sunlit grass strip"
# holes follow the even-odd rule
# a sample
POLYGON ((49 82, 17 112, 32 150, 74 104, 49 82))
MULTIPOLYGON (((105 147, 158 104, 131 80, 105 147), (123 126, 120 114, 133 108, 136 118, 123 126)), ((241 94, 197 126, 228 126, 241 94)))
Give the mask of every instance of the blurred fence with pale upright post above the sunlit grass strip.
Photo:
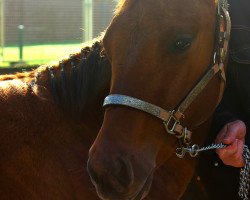
POLYGON ((115 5, 114 0, 0 0, 0 57, 9 59, 6 47, 90 40, 108 26, 115 5))

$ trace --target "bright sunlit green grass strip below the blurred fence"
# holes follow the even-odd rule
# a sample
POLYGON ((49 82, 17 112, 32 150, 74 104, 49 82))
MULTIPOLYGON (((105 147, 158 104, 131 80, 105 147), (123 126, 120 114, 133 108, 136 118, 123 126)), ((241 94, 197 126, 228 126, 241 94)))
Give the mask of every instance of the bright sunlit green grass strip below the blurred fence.
MULTIPOLYGON (((79 51, 83 44, 53 44, 24 46, 23 60, 28 65, 45 64, 79 51)), ((19 61, 18 47, 5 47, 4 57, 0 57, 0 66, 7 67, 11 62, 19 61)))

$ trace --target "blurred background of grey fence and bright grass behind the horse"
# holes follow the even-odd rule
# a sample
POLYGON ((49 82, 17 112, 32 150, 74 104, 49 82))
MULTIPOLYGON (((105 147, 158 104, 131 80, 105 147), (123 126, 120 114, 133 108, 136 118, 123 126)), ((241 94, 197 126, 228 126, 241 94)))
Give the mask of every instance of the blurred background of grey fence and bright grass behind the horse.
POLYGON ((0 0, 0 67, 48 63, 103 32, 117 0, 0 0))

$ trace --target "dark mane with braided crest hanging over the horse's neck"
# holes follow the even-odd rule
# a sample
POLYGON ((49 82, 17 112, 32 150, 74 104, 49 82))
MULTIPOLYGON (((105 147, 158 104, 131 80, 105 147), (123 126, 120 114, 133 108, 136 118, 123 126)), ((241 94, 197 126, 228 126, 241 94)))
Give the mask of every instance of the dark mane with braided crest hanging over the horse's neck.
POLYGON ((37 70, 37 84, 71 118, 102 121, 102 102, 109 92, 111 67, 102 43, 85 47, 55 66, 37 70))

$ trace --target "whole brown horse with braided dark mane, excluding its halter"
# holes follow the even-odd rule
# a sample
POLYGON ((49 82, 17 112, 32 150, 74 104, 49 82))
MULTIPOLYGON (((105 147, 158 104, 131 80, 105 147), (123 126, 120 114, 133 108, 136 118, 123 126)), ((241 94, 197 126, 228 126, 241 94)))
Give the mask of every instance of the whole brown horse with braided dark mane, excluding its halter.
MULTIPOLYGON (((151 3, 149 0, 121 2, 116 18, 105 35, 105 48, 113 66, 111 91, 124 91, 123 94, 134 95, 162 107, 174 107, 175 100, 181 99, 184 93, 189 91, 209 64, 213 48, 216 4, 208 0, 194 1, 193 4, 190 2, 187 5, 182 2, 185 4, 183 7, 178 6, 178 1, 154 1, 152 5, 151 3), (182 10, 184 7, 187 10, 182 10), (130 9, 133 9, 132 12, 130 9), (143 12, 138 12, 141 9, 143 12), (183 16, 175 15, 180 11, 183 11, 183 16), (139 14, 138 18, 137 14, 139 14), (187 20, 185 24, 183 24, 184 19, 187 20), (182 23, 178 25, 180 22, 182 23), (129 27, 127 27, 128 24, 130 24, 129 27), (125 28, 117 29, 120 25, 125 28), (206 31, 204 31, 205 28, 206 31), (114 31, 118 31, 119 34, 113 34, 114 31), (147 43, 144 43, 144 40, 147 43), (164 46, 162 46, 163 42, 164 46), (189 47, 191 42, 193 44, 189 47), (122 51, 120 47, 123 47, 122 51), (140 51, 141 49, 143 51, 140 51), (194 55, 197 51, 199 51, 199 58, 194 55), (135 65, 140 68, 136 68, 135 65), (117 71, 116 67, 128 69, 117 71), (148 67, 152 69, 149 70, 148 67), (164 67, 166 69, 163 69, 164 67), (168 74, 171 74, 172 80, 166 78, 168 74), (188 79, 187 75, 189 75, 188 79), (127 78, 129 79, 126 80, 127 78), (147 83, 150 85, 146 86, 147 83), (186 87, 181 91, 179 89, 183 84, 186 87), (171 87, 165 88, 167 85, 171 87), (130 86, 130 89, 127 88, 130 86), (168 96, 169 94, 171 95, 168 96)), ((0 199, 99 199, 90 183, 85 166, 88 149, 102 123, 101 107, 110 89, 110 77, 110 63, 101 43, 84 48, 58 65, 41 66, 29 73, 0 77, 2 115, 0 119, 0 199)), ((215 78, 214 81, 192 105, 189 114, 186 114, 192 116, 192 120, 186 123, 195 122, 193 128, 207 117, 203 116, 203 112, 209 110, 208 114, 211 113, 217 102, 215 97, 218 96, 217 86, 220 80, 215 78), (210 90, 214 93, 211 94, 210 90), (201 104, 200 101, 204 98, 211 98, 208 108, 201 107, 198 111, 194 110, 195 105, 201 104), (198 115, 193 117, 195 112, 198 115)), ((113 163, 106 161, 105 165, 115 165, 107 168, 107 176, 111 176, 111 172, 120 175, 120 179, 112 180, 117 184, 116 189, 120 191, 124 190, 125 185, 132 183, 130 182, 132 177, 134 179, 133 184, 130 185, 132 189, 129 188, 132 191, 136 189, 134 183, 140 184, 138 176, 145 174, 148 165, 154 166, 151 170, 153 173, 167 160, 168 162, 155 172, 152 190, 146 199, 179 199, 191 179, 194 160, 188 158, 183 161, 176 158, 173 150, 168 146, 170 143, 174 146, 175 142, 173 139, 165 138, 157 120, 150 116, 145 117, 144 113, 136 110, 130 110, 131 114, 124 112, 121 115, 110 115, 114 117, 113 130, 117 131, 117 135, 113 136, 116 140, 112 135, 110 140, 105 138, 102 140, 106 135, 102 130, 96 142, 97 144, 102 140, 98 148, 105 148, 106 152, 103 151, 101 156, 111 153, 110 158, 115 161, 113 163), (119 118, 116 119, 117 116, 119 118), (126 123, 122 126, 121 117, 125 117, 123 121, 126 123), (136 123, 133 119, 137 119, 136 123), (155 135, 149 134, 151 132, 155 135), (128 135, 124 136, 124 133, 128 135), (107 143, 103 146, 105 142, 107 143), (114 142, 114 145, 109 145, 110 142, 114 142), (108 148, 106 148, 107 145, 108 148), (155 145, 159 146, 155 147, 155 145), (126 152, 126 148, 133 153, 126 152), (113 154, 116 150, 116 153, 122 153, 118 160, 112 159, 116 157, 113 154), (157 160, 152 159, 156 157, 157 160), (128 159, 132 159, 133 163, 128 162, 128 159), (138 169, 138 166, 141 166, 141 169, 138 169), (132 173, 128 170, 130 167, 133 168, 132 173), (127 176, 129 174, 130 177, 127 176), (135 176, 132 176, 133 174, 135 176), (170 185, 169 182, 175 184, 170 185), (118 186, 121 187, 118 188, 118 186)), ((108 128, 107 119, 103 127, 108 128)), ((203 137, 205 135, 197 135, 194 140, 201 142, 203 137)), ((101 158, 101 161, 104 159, 106 157, 101 158)), ((103 165, 98 167, 102 168, 103 165)), ((107 183, 102 185, 104 192, 113 184, 102 179, 104 176, 98 178, 101 178, 103 183, 107 183)), ((151 177, 148 178, 148 188, 150 181, 151 177)), ((145 184, 145 191, 148 188, 145 184)), ((113 188, 109 189, 110 195, 113 195, 113 188)), ((141 191, 144 192, 144 190, 141 191)), ((145 195, 138 195, 138 198, 140 196, 145 195)))

